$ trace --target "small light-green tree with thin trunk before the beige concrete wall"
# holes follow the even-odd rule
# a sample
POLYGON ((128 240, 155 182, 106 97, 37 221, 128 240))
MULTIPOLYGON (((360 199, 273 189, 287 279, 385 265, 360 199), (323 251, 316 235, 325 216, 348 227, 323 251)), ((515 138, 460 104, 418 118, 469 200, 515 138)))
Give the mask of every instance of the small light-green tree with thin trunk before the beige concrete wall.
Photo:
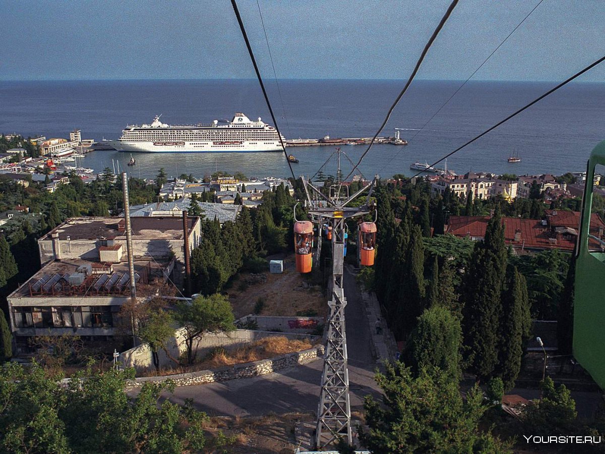
POLYGON ((204 334, 235 329, 231 303, 223 295, 200 296, 191 303, 178 303, 175 309, 174 320, 185 330, 184 342, 189 364, 195 360, 194 343, 204 334))

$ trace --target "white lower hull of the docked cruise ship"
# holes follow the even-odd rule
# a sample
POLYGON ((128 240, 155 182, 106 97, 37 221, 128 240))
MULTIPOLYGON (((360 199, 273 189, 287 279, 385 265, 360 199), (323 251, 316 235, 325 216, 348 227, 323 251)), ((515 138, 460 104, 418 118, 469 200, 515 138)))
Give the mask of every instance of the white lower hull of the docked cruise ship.
POLYGON ((251 143, 242 140, 214 142, 125 142, 122 140, 105 140, 104 143, 117 151, 129 153, 258 153, 261 151, 283 151, 277 143, 251 143), (231 142, 231 143, 229 143, 231 142))

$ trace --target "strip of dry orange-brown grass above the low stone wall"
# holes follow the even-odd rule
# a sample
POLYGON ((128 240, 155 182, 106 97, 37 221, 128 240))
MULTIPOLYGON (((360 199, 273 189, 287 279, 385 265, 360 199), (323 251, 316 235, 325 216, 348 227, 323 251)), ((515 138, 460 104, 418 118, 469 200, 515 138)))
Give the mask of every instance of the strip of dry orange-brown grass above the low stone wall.
POLYGON ((216 369, 217 367, 233 366, 234 364, 251 363, 252 361, 266 360, 279 355, 286 355, 313 346, 308 339, 288 339, 284 336, 266 337, 252 342, 246 346, 232 351, 217 347, 206 357, 191 366, 176 366, 171 369, 162 369, 157 372, 149 369, 141 373, 141 377, 157 377, 159 375, 174 375, 176 373, 195 372, 196 370, 216 369))

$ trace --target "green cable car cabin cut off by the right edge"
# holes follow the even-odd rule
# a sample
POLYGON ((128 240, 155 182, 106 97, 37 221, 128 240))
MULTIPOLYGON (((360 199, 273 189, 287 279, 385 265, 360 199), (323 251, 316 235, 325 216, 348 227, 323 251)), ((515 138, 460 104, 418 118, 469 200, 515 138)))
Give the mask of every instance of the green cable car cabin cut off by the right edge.
POLYGON ((596 165, 605 165, 605 140, 590 153, 586 171, 575 261, 573 350, 581 366, 605 389, 605 241, 601 232, 590 228, 596 165))

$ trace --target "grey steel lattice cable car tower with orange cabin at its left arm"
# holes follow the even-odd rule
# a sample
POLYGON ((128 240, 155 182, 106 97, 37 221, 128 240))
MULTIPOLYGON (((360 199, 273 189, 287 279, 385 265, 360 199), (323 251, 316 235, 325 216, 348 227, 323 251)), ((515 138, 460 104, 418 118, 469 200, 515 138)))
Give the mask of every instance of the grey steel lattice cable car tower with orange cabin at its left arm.
MULTIPOLYGON (((332 283, 330 286, 331 297, 328 301, 327 341, 325 345, 324 368, 321 377, 321 395, 319 397, 319 409, 317 413, 316 445, 318 449, 338 441, 338 438, 344 438, 349 444, 352 443, 351 404, 349 400, 347 369, 347 335, 345 332, 344 317, 347 298, 345 298, 343 288, 345 241, 347 237, 345 222, 347 219, 361 217, 376 211, 376 207, 371 202, 370 196, 378 180, 378 176, 374 177, 370 185, 359 189, 355 194, 349 196, 348 186, 343 185, 339 180, 341 175, 340 150, 337 149, 336 153, 338 153, 338 174, 335 184, 330 186, 329 196, 313 185, 310 180, 301 177, 306 191, 306 205, 309 208, 309 217, 313 223, 318 223, 318 248, 321 244, 323 224, 325 222, 332 224, 332 230, 330 231, 330 236, 332 237, 332 283), (364 205, 356 207, 347 206, 366 190, 368 194, 364 205)), ((294 226, 295 252, 297 254, 296 268, 299 272, 311 271, 309 232, 312 232, 312 230, 310 229, 310 225, 311 222, 309 221, 296 221, 294 226), (299 256, 308 256, 309 258, 305 260, 304 257, 299 256)), ((374 261, 373 241, 375 231, 376 228, 374 227, 374 234, 370 238, 371 249, 369 246, 367 248, 368 251, 371 250, 371 264, 374 261)), ((328 238, 330 239, 330 237, 328 238)), ((370 241, 368 241, 368 245, 370 245, 370 241)), ((359 247, 361 248, 361 243, 359 247)))

